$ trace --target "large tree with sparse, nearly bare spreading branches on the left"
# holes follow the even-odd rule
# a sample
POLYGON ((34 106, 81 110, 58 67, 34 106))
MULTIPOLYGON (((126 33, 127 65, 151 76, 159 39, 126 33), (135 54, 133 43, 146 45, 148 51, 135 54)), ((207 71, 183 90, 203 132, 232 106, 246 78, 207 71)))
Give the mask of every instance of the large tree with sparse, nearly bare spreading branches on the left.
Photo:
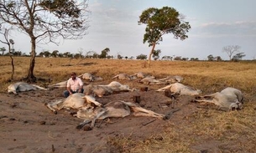
POLYGON ((36 80, 36 43, 59 43, 58 38, 77 39, 86 35, 87 0, 4 0, 0 1, 0 24, 18 28, 31 42, 27 79, 36 80))

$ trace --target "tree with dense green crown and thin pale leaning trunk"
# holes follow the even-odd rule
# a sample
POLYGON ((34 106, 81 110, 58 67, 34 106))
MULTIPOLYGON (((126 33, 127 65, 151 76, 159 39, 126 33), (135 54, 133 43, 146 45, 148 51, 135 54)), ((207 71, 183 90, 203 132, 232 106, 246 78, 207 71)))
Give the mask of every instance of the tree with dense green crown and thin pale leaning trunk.
POLYGON ((184 16, 180 15, 175 8, 148 8, 139 16, 138 24, 147 24, 144 33, 144 43, 152 46, 149 54, 149 65, 151 56, 154 54, 154 47, 163 41, 163 35, 173 33, 174 38, 184 40, 188 38, 186 33, 191 28, 188 22, 183 21, 184 16))

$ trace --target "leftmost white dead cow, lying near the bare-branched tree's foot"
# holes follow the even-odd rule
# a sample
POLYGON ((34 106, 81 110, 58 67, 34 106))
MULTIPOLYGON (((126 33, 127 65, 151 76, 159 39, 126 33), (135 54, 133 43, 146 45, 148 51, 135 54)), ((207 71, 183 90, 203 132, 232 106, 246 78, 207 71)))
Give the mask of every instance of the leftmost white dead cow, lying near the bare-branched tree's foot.
POLYGON ((24 91, 30 91, 30 90, 36 90, 36 89, 48 90, 43 87, 40 87, 39 85, 28 84, 25 82, 18 82, 15 84, 10 84, 8 86, 8 93, 17 94, 18 92, 24 92, 24 91))

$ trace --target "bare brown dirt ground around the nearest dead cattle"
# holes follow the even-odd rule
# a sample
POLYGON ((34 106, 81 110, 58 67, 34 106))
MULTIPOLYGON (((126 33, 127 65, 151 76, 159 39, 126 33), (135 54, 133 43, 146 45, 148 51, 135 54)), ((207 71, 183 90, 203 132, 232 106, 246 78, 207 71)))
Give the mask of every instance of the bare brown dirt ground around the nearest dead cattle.
MULTIPOLYGON (((102 104, 112 100, 133 101, 139 95, 145 109, 167 114, 171 110, 171 99, 163 92, 155 92, 165 85, 149 87, 147 92, 124 92, 97 98, 102 104)), ((167 125, 182 125, 198 104, 191 103, 192 97, 176 99, 175 109, 169 120, 155 120, 149 117, 128 116, 123 119, 97 121, 93 130, 76 130, 81 123, 67 110, 54 115, 44 106, 52 99, 62 97, 64 89, 38 90, 15 94, 0 94, 0 152, 118 152, 107 145, 110 138, 124 136, 132 140, 145 140, 161 133, 167 125), (54 151, 53 151, 54 150, 54 151)), ((202 150, 205 146, 195 146, 202 150)))

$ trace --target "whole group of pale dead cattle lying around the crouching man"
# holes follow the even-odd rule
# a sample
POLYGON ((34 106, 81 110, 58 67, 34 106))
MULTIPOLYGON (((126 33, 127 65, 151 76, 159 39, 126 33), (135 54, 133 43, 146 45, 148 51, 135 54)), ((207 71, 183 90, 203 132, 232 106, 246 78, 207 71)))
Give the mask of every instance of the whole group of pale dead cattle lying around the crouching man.
MULTIPOLYGON (((181 84, 183 78, 180 76, 168 76, 164 79, 156 79, 153 75, 138 72, 137 74, 117 74, 112 77, 115 81, 109 84, 93 84, 95 81, 102 80, 101 77, 90 73, 81 74, 78 77, 91 81, 91 84, 84 86, 84 93, 71 94, 67 98, 57 99, 45 104, 55 114, 57 110, 74 109, 77 110, 76 116, 84 120, 77 129, 81 129, 84 125, 91 123, 92 129, 96 120, 104 120, 110 117, 125 117, 127 115, 134 116, 149 116, 160 120, 168 118, 167 115, 158 114, 152 110, 146 110, 134 102, 123 100, 116 100, 102 105, 96 100, 96 97, 102 97, 108 94, 113 94, 121 91, 138 91, 139 89, 130 88, 127 84, 120 84, 117 80, 135 80, 142 84, 165 84, 161 89, 156 89, 156 92, 169 92, 170 95, 191 95, 195 98, 194 102, 206 102, 219 106, 219 108, 226 108, 227 110, 241 110, 243 108, 243 94, 240 90, 227 87, 220 92, 214 94, 202 95, 201 89, 195 89, 191 86, 181 84)), ((58 84, 51 84, 48 88, 43 88, 35 84, 27 84, 18 82, 8 86, 8 93, 18 94, 29 90, 65 87, 67 81, 58 84)))

